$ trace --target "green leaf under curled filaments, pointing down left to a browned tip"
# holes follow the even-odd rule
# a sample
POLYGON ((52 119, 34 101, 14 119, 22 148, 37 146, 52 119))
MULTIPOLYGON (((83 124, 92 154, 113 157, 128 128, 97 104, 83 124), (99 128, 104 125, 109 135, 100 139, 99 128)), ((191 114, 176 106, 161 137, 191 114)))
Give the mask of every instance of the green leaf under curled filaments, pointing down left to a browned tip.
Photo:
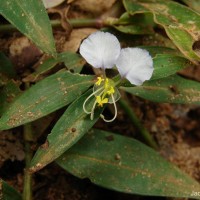
MULTIPOLYGON (((31 172, 38 171, 54 161, 72 145, 74 145, 97 121, 102 109, 95 111, 94 119, 83 111, 83 103, 91 94, 91 90, 72 103, 58 120, 47 141, 39 148, 31 161, 31 172)), ((88 101, 88 110, 91 110, 94 98, 88 101)))

